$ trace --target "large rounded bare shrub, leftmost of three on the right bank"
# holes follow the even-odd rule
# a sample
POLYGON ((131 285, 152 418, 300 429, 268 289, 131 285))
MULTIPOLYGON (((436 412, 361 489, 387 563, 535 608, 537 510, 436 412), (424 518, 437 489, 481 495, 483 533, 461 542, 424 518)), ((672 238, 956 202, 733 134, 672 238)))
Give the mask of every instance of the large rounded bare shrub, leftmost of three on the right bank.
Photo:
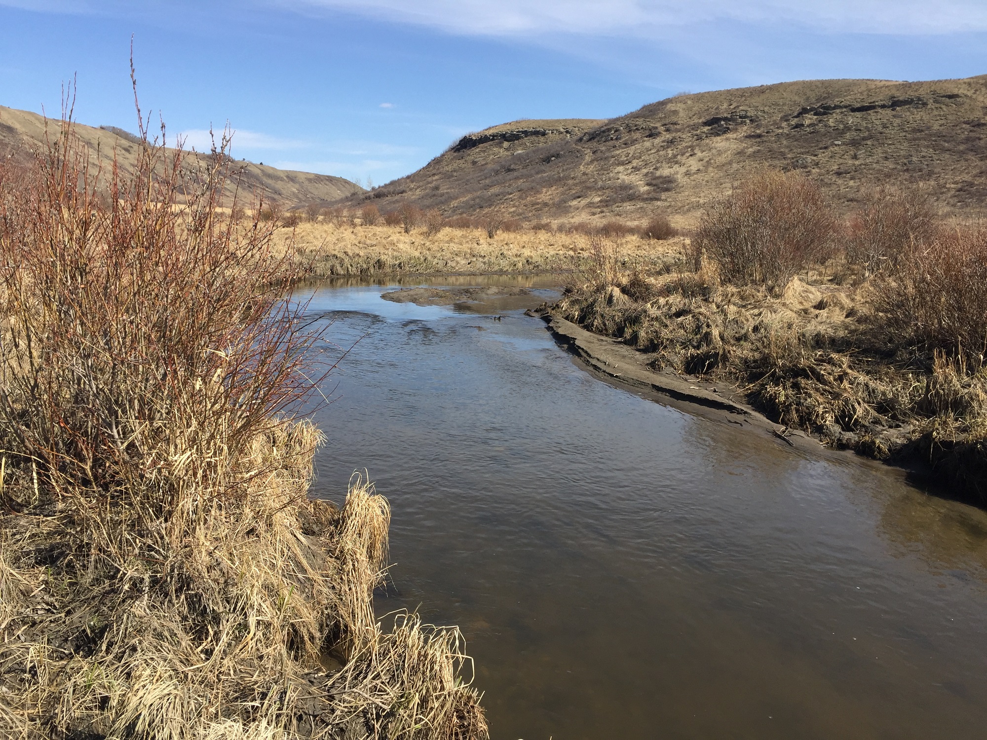
POLYGON ((780 285, 830 259, 837 223, 818 186, 797 173, 766 172, 706 206, 690 261, 705 253, 724 280, 780 285))

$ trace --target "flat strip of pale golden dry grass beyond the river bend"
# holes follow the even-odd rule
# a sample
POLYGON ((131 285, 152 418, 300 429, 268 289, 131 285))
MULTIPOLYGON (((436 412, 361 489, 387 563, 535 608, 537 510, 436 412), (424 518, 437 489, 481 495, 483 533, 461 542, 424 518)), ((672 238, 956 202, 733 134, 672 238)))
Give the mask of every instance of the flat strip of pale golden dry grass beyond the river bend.
MULTIPOLYGON (((594 238, 548 231, 499 232, 444 228, 426 236, 423 228, 406 234, 400 226, 302 223, 274 236, 281 250, 292 250, 313 278, 333 275, 495 274, 568 272, 593 256, 594 238)), ((612 239, 628 264, 680 261, 684 240, 656 241, 629 236, 612 239)))

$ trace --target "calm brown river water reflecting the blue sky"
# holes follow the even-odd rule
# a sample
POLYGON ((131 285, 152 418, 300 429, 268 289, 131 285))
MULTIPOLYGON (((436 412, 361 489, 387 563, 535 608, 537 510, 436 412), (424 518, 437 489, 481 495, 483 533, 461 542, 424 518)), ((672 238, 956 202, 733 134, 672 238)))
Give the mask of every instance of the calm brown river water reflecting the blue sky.
POLYGON ((366 468, 388 496, 378 609, 461 626, 493 738, 987 736, 983 512, 600 382, 519 310, 386 289, 315 292, 363 337, 315 492, 366 468))

